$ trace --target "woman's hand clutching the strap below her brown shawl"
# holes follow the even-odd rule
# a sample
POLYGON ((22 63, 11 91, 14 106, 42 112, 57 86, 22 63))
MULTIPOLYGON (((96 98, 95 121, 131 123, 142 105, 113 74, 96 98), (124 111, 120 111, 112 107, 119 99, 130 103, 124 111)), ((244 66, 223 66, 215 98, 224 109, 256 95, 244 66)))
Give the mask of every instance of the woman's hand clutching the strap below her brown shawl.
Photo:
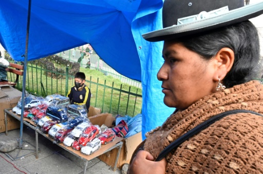
POLYGON ((129 166, 129 174, 154 174, 165 173, 166 159, 155 162, 154 157, 148 151, 140 150, 129 166))

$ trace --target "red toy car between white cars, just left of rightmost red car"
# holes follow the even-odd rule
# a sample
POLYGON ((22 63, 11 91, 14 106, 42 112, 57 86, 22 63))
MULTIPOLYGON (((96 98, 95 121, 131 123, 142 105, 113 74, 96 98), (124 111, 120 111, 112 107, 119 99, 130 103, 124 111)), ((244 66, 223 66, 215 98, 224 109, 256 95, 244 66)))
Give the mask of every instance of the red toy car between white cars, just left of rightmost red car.
POLYGON ((100 130, 97 126, 91 125, 84 129, 83 133, 80 136, 79 144, 81 146, 87 145, 88 142, 92 141, 99 136, 100 130))

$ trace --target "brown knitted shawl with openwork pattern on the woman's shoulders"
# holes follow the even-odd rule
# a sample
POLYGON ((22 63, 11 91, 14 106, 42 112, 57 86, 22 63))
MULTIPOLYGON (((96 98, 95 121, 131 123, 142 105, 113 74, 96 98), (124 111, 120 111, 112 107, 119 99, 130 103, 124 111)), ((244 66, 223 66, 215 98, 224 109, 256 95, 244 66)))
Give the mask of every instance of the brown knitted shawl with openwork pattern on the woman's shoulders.
MULTIPOLYGON (((250 81, 206 96, 172 114, 144 144, 154 158, 168 144, 212 116, 229 110, 263 114, 263 85, 250 81)), ((166 157, 166 173, 263 173, 263 118, 229 115, 182 143, 166 157)))

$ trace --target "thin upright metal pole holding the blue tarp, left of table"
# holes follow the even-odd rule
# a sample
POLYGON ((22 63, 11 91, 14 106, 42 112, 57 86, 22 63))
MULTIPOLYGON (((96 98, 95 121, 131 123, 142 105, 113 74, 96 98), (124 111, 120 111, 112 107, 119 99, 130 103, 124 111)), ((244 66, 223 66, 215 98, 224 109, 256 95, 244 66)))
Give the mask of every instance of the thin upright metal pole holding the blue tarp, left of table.
POLYGON ((25 109, 25 94, 26 94, 26 72, 27 72, 27 56, 28 56, 28 38, 29 38, 29 26, 30 26, 30 13, 31 13, 31 0, 28 0, 28 13, 27 13, 27 35, 26 35, 26 50, 25 50, 25 60, 24 60, 24 71, 23 71, 23 85, 22 85, 22 109, 21 109, 21 119, 20 119, 20 141, 19 148, 22 148, 23 144, 23 118, 25 109))

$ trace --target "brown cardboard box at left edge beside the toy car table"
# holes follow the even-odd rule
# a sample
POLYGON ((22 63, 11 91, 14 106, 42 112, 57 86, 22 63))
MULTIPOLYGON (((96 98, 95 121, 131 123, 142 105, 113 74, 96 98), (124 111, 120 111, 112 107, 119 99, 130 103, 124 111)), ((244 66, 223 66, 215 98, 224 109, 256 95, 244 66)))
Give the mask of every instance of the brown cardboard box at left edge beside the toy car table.
MULTIPOLYGON (((5 126, 5 109, 16 106, 18 100, 21 98, 22 92, 16 90, 11 86, 1 87, 0 90, 0 133, 6 131, 5 126)), ((7 117, 7 129, 12 130, 20 127, 20 121, 13 117, 7 117)))

